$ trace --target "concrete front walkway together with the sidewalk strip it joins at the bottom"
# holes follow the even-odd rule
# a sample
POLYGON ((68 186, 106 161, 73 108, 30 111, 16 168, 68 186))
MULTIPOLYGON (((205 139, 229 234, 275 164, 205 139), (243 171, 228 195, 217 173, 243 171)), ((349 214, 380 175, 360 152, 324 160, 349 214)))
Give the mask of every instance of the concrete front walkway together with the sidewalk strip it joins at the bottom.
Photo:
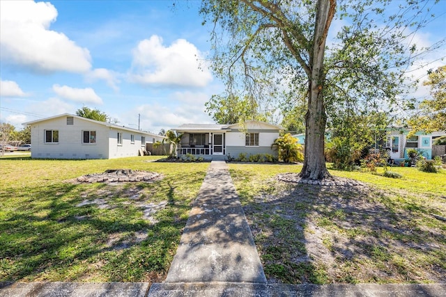
POLYGON ((0 282, 0 297, 19 296, 446 297, 446 284, 267 284, 226 163, 212 161, 165 282, 0 282))

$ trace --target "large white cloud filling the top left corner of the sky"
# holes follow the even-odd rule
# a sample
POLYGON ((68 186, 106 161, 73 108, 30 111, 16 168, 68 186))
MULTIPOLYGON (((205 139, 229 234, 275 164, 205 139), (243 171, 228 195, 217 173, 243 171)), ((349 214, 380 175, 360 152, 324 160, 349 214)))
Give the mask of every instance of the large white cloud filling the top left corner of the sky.
POLYGON ((57 10, 51 3, 0 1, 1 60, 37 72, 86 72, 91 68, 88 49, 65 34, 49 30, 57 10))

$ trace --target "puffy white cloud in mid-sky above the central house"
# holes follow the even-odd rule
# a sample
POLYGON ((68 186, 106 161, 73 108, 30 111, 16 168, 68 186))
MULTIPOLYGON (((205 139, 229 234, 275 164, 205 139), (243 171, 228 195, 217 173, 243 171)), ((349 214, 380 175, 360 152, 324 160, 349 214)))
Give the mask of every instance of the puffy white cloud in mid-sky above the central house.
POLYGON ((184 39, 170 47, 162 38, 152 35, 133 49, 130 80, 141 84, 204 87, 213 77, 207 67, 199 69, 203 60, 200 51, 184 39))

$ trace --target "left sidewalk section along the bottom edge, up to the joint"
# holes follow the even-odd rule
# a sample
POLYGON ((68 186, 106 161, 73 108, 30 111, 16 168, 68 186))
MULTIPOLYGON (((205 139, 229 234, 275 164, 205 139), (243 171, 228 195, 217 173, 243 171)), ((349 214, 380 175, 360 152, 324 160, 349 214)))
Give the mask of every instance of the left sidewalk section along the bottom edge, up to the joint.
POLYGON ((0 297, 144 297, 147 282, 0 282, 0 297))

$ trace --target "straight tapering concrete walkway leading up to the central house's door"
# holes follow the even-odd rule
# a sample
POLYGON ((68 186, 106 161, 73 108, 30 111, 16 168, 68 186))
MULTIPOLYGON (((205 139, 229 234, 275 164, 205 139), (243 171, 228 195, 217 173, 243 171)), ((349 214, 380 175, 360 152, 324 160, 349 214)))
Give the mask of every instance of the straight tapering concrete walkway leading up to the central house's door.
POLYGON ((166 282, 266 283, 245 212, 224 161, 212 161, 166 282))

